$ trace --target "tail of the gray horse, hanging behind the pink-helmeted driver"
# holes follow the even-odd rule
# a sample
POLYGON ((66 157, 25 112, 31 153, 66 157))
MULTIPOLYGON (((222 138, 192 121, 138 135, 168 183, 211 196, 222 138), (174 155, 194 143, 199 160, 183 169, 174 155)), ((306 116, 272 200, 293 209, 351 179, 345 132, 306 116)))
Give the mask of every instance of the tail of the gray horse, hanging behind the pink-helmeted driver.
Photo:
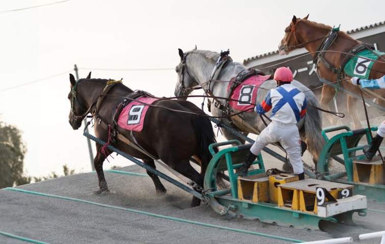
POLYGON ((307 97, 308 105, 306 108, 306 118, 305 118, 305 129, 301 129, 299 132, 301 138, 303 138, 308 144, 309 153, 313 157, 313 162, 317 165, 317 161, 323 146, 326 141, 322 136, 322 114, 317 109, 319 103, 317 99, 312 97, 307 97))

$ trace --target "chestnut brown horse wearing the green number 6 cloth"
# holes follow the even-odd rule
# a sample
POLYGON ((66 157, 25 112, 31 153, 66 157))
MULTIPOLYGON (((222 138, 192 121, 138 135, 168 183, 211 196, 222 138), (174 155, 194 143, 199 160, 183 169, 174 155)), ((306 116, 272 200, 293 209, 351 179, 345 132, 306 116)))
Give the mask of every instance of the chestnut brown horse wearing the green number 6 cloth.
MULTIPOLYGON (((348 92, 361 96, 358 87, 350 83, 349 79, 353 75, 351 72, 346 73, 345 65, 355 54, 363 50, 368 50, 371 53, 372 48, 369 44, 361 43, 354 40, 344 32, 339 31, 338 28, 332 28, 331 26, 316 23, 308 20, 308 16, 303 19, 293 17, 289 26, 285 28, 285 37, 279 44, 279 51, 281 55, 288 54, 297 48, 306 48, 314 57, 314 63, 316 63, 317 75, 330 82, 336 82, 337 79, 341 82, 339 86, 343 87, 348 92)), ((378 79, 385 75, 385 55, 377 55, 376 61, 362 58, 363 62, 356 62, 355 70, 360 73, 368 71, 369 79, 378 79), (372 63, 371 68, 368 64, 372 63), (370 72, 370 73, 369 73, 370 72)), ((358 76, 358 75, 354 75, 358 76)), ((361 77, 363 78, 363 77, 361 77)), ((372 91, 377 94, 377 104, 384 107, 385 101, 382 99, 385 97, 385 93, 382 89, 375 89, 372 91)), ((322 87, 322 94, 320 100, 320 106, 323 109, 330 110, 329 102, 335 97, 336 90, 334 86, 325 85, 322 87)), ((373 98, 373 96, 363 93, 364 98, 373 98)), ((354 128, 361 128, 361 122, 359 120, 356 109, 357 98, 351 95, 347 95, 347 111, 350 114, 354 128)), ((325 114, 332 125, 337 125, 338 121, 336 116, 329 113, 325 114)))

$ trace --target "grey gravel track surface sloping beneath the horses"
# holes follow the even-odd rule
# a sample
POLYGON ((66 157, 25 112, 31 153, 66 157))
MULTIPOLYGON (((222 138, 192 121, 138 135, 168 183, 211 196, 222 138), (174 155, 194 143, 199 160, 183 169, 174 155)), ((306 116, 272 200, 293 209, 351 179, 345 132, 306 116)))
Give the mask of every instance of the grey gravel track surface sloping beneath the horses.
MULTIPOLYGON (((145 174, 136 165, 118 170, 145 174)), ((189 208, 192 196, 165 180, 167 194, 156 196, 149 177, 105 176, 110 192, 101 195, 94 172, 17 187, 69 199, 0 190, 0 231, 46 243, 295 243, 342 237, 380 243, 380 238, 359 240, 359 235, 385 230, 385 213, 372 210, 366 217, 354 214, 356 226, 325 222, 322 231, 310 232, 233 219, 210 206, 189 208)), ((368 208, 385 211, 385 204, 369 202, 368 208)), ((28 242, 0 234, 0 243, 28 242)))

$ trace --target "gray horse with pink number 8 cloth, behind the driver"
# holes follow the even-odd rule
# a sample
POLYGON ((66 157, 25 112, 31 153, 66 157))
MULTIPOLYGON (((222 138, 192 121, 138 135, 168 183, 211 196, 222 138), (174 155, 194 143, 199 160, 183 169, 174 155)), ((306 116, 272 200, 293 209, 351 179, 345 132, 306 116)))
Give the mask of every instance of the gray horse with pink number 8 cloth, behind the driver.
MULTIPOLYGON (((245 66, 232 62, 231 59, 224 65, 224 67, 213 74, 217 68, 216 64, 221 57, 221 54, 217 52, 207 51, 207 50, 191 50, 183 53, 179 49, 179 56, 181 62, 176 67, 176 72, 178 74, 178 81, 175 87, 175 96, 184 97, 180 99, 187 99, 185 96, 190 94, 194 88, 202 87, 205 90, 206 95, 211 97, 222 97, 227 98, 228 94, 228 85, 232 78, 237 77, 237 75, 248 69, 245 66), (214 79, 212 79, 214 77, 214 79), (209 81, 211 78, 211 81, 209 81)), ((319 107, 318 100, 311 90, 300 82, 293 80, 291 82, 296 86, 301 92, 304 92, 306 95, 308 107, 306 116, 299 121, 297 124, 299 128, 299 133, 301 140, 305 141, 308 145, 309 153, 312 155, 313 162, 315 166, 319 158, 319 154, 322 150, 323 145, 325 144, 325 139, 323 138, 322 132, 322 114, 316 108, 319 107)), ((257 91, 255 104, 261 103, 267 92, 277 87, 276 81, 269 78, 263 82, 257 91)), ((213 116, 223 116, 222 109, 219 109, 216 104, 226 104, 225 99, 215 99, 215 101, 210 98, 212 101, 210 106, 210 111, 213 116)), ((233 107, 231 108, 232 113, 238 113, 240 110, 236 110, 233 107)), ((267 114, 269 115, 269 114, 267 114)), ((248 112, 240 113, 237 116, 233 116, 233 122, 236 125, 239 132, 243 135, 259 134, 265 127, 265 123, 268 124, 268 119, 263 119, 258 116, 253 110, 248 112)), ((223 120, 225 124, 229 125, 228 119, 223 120)), ((233 133, 223 130, 223 135, 227 140, 237 139, 240 140, 238 136, 233 133)), ((244 143, 244 140, 240 140, 244 143)), ((282 149, 282 147, 281 147, 282 149)))

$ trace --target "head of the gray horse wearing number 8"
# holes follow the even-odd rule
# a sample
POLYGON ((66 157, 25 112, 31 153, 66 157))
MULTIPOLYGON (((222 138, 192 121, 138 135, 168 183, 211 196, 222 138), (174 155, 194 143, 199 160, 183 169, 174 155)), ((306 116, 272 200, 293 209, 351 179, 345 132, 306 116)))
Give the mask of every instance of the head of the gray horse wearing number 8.
MULTIPOLYGON (((197 48, 197 47, 196 47, 197 48)), ((196 50, 196 48, 194 50, 196 50)), ((188 52, 183 52, 182 49, 179 49, 180 63, 175 68, 176 73, 178 74, 177 84, 175 86, 174 95, 175 97, 183 97, 178 98, 180 100, 186 100, 191 92, 193 92, 194 83, 197 84, 193 78, 191 78, 190 74, 188 74, 187 66, 186 66, 186 57, 188 52)))

